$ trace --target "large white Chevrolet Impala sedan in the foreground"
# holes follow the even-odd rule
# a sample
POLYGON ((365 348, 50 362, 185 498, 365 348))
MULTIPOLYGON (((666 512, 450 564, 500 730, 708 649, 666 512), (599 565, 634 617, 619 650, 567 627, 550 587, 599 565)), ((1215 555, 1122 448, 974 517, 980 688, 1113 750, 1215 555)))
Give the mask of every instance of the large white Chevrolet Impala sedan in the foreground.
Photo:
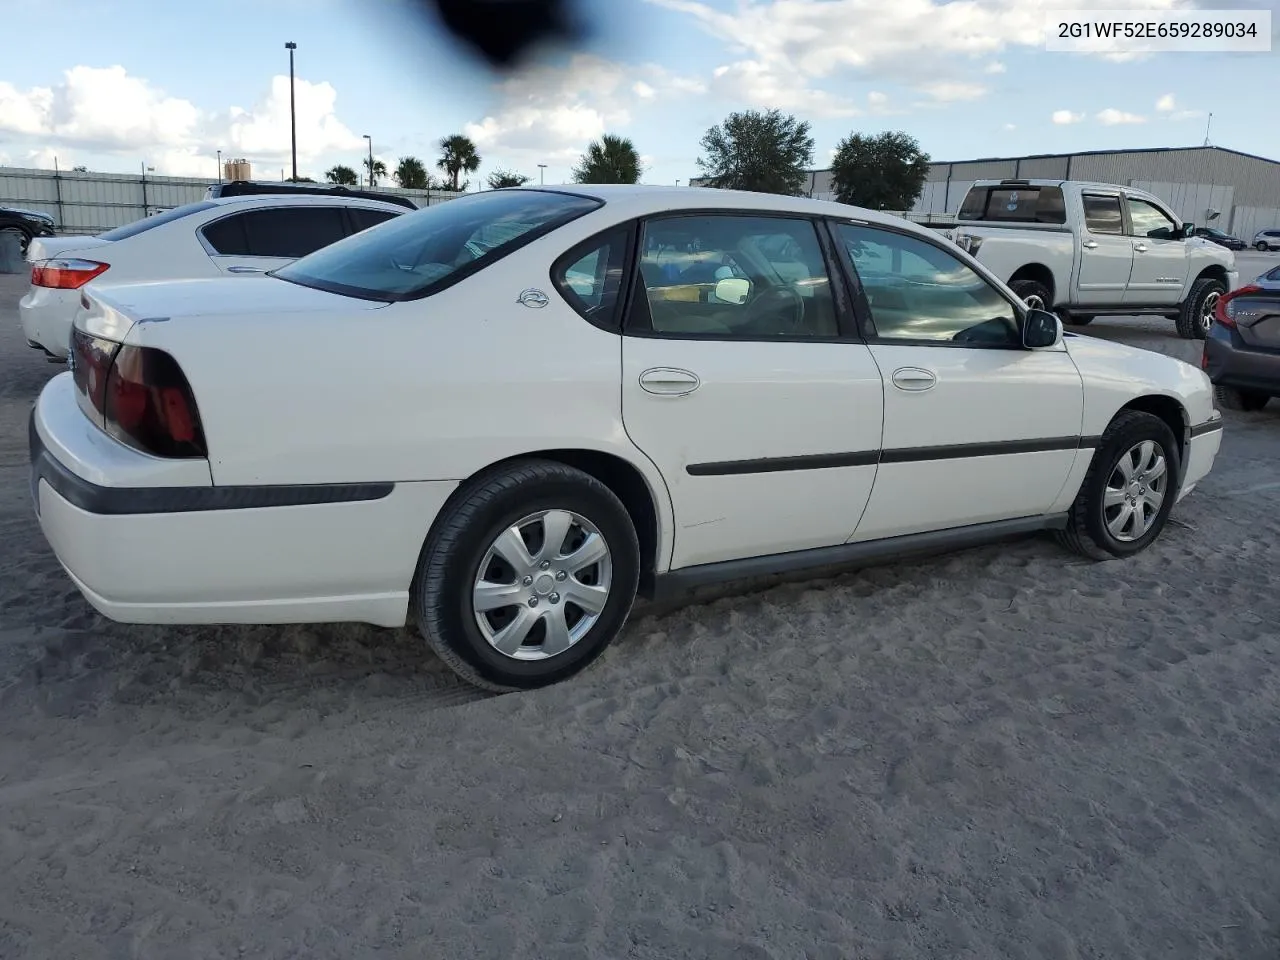
POLYGON ((1128 557, 1222 436, 1194 366, 1064 339, 902 219, 759 193, 493 191, 86 300, 31 453, 93 607, 412 621, 493 689, 582 669, 637 591, 1039 530, 1128 557))

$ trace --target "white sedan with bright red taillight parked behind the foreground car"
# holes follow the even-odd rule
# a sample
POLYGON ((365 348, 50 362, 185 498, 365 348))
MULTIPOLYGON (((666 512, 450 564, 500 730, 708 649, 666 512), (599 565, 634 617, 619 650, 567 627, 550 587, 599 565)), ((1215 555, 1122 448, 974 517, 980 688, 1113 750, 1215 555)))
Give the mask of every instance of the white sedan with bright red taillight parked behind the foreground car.
POLYGON ((119 283, 260 276, 329 243, 411 212, 343 196, 234 196, 173 207, 96 237, 37 237, 18 301, 27 343, 67 358, 81 289, 119 283))

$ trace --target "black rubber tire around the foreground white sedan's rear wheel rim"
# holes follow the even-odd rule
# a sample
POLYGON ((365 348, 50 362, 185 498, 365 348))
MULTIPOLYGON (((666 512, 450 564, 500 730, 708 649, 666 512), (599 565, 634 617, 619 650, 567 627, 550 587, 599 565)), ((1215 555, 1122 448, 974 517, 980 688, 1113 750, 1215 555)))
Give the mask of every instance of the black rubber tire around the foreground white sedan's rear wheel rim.
MULTIPOLYGON (((604 653, 626 625, 639 577, 635 526, 613 492, 581 470, 529 460, 480 475, 447 507, 422 548, 413 576, 413 609, 428 645, 460 677, 486 690, 531 690, 567 680, 604 653), (516 659, 497 650, 480 631, 472 586, 497 536, 524 517, 549 509, 571 511, 599 531, 609 549, 611 588, 596 622, 567 650, 544 659, 516 659)), ((536 584, 530 588, 531 596, 536 589, 536 584)), ((554 609, 549 596, 541 602, 548 613, 554 609)), ((575 609, 581 612, 566 602, 561 612, 570 616, 575 609)), ((517 611, 522 612, 521 604, 500 613, 515 617, 517 611)), ((545 621, 539 623, 531 635, 545 630, 545 621)))

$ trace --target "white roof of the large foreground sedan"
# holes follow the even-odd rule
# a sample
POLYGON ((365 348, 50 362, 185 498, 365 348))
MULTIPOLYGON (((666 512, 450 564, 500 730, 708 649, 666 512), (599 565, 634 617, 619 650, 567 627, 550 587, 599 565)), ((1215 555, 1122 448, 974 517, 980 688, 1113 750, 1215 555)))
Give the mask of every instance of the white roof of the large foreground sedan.
MULTIPOLYGON (((663 187, 643 183, 584 183, 545 187, 507 187, 506 189, 548 191, 594 197, 604 201, 614 214, 650 216, 666 211, 684 210, 759 210, 760 212, 797 214, 801 216, 833 216, 845 220, 864 220, 891 227, 905 227, 918 233, 931 233, 910 220, 867 210, 833 200, 788 197, 782 193, 756 193, 745 189, 717 189, 714 187, 663 187)), ((451 201, 456 202, 456 201, 451 201)))

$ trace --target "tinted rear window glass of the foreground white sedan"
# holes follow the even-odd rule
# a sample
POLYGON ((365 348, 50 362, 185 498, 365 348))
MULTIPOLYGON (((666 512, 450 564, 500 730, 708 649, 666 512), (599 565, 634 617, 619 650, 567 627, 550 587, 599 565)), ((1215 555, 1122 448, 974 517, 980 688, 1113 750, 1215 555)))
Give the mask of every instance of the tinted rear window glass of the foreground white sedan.
POLYGON ((602 201, 539 189, 498 189, 404 214, 274 273, 282 280, 365 300, 434 293, 602 201))

